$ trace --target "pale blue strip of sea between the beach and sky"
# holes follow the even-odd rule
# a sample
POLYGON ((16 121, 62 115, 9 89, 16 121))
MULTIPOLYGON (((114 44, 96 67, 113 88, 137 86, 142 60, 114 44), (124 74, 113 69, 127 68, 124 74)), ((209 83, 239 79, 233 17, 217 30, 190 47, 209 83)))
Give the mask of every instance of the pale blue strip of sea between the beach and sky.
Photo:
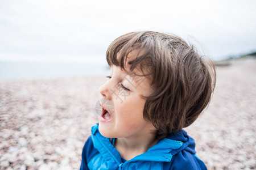
POLYGON ((0 81, 105 75, 108 71, 104 62, 0 62, 0 81))

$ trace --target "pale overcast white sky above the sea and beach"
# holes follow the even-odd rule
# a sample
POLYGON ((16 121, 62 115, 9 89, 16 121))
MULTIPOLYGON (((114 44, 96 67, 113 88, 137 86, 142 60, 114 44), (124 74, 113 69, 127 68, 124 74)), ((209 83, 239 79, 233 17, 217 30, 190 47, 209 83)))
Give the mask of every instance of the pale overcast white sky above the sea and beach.
POLYGON ((213 60, 256 51, 256 1, 0 1, 0 62, 101 62, 131 31, 174 33, 213 60))

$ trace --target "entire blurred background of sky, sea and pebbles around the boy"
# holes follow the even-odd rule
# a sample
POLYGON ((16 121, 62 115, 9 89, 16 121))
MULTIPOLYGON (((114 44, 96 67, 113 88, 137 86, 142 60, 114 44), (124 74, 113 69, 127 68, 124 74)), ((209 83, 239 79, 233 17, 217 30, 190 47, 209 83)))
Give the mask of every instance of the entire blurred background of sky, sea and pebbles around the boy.
POLYGON ((186 128, 208 169, 255 169, 256 1, 0 1, 0 169, 79 169, 106 49, 174 33, 215 63, 212 103, 186 128))

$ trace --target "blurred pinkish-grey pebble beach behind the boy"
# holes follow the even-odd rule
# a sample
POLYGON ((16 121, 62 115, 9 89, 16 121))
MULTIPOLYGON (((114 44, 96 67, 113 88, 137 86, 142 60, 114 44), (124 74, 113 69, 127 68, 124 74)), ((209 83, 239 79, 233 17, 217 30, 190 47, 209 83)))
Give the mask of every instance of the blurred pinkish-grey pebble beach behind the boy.
MULTIPOLYGON (((185 130, 208 169, 256 169, 256 58, 227 62, 185 130)), ((0 169, 79 169, 105 76, 0 81, 0 169)))

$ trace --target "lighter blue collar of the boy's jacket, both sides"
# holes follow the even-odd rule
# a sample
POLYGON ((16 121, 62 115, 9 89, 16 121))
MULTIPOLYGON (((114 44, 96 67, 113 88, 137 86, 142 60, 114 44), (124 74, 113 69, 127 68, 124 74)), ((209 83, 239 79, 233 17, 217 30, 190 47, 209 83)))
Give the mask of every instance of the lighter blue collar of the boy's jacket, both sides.
MULTIPOLYGON (((122 163, 121 155, 117 149, 106 138, 100 134, 98 130, 98 124, 92 127, 92 141, 93 146, 101 153, 101 155, 110 162, 122 163)), ((182 130, 178 134, 170 134, 168 138, 160 140, 156 145, 152 146, 142 155, 135 156, 135 158, 129 160, 147 160, 147 161, 159 161, 159 162, 170 162, 172 156, 183 150, 191 142, 187 133, 182 130), (174 139, 180 139, 176 141, 174 139), (183 141, 183 142, 182 142, 183 141)))

